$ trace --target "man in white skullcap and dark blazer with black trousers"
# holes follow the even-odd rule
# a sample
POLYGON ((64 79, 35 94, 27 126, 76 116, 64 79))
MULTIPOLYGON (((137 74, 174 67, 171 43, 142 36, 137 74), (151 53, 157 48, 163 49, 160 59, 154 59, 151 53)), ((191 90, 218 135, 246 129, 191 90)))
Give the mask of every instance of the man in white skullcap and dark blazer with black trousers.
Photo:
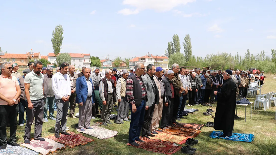
POLYGON ((174 93, 174 87, 172 85, 172 79, 174 78, 174 72, 168 71, 166 78, 163 78, 163 83, 166 90, 166 103, 163 105, 162 119, 160 127, 163 129, 169 125, 172 125, 172 114, 174 107, 174 96, 178 95, 174 93))

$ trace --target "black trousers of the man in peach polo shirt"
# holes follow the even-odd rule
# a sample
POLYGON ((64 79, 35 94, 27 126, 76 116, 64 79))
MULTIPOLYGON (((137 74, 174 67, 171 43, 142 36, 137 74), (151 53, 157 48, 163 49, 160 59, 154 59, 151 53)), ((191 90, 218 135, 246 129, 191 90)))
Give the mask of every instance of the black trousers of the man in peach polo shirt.
POLYGON ((16 142, 18 104, 0 105, 0 145, 7 145, 7 118, 10 123, 10 144, 16 142))

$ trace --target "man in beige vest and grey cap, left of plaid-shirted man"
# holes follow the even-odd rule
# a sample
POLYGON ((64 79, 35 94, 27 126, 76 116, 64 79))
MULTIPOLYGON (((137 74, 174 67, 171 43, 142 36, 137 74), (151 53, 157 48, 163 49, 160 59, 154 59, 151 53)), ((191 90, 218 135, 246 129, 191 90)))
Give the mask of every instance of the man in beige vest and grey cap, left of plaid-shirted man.
POLYGON ((123 77, 119 78, 116 85, 116 98, 118 100, 118 116, 117 120, 114 121, 116 124, 122 124, 128 120, 129 104, 126 102, 126 79, 128 78, 129 72, 123 70, 123 77))

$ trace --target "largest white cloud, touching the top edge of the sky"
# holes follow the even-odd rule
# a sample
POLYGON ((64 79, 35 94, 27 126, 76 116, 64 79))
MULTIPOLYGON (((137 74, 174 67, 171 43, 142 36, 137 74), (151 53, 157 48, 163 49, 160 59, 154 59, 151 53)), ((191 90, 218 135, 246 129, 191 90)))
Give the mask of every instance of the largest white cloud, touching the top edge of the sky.
MULTIPOLYGON (((137 14, 139 13, 139 11, 146 10, 146 9, 155 10, 157 12, 165 12, 165 11, 172 10, 174 7, 186 5, 189 2, 195 2, 195 0, 124 0, 123 4, 135 7, 136 12, 131 14, 137 14)), ((129 9, 128 10, 123 9, 123 10, 129 11, 129 9)))

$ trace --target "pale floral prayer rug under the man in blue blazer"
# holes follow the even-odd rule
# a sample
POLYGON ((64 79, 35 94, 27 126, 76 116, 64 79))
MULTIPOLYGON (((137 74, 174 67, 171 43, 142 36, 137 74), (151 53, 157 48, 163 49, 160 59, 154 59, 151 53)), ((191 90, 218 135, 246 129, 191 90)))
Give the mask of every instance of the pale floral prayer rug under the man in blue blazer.
POLYGON ((78 132, 83 132, 84 134, 88 134, 94 137, 97 137, 99 139, 108 139, 116 136, 118 134, 118 131, 108 130, 103 127, 98 126, 91 126, 93 129, 84 129, 84 131, 81 131, 77 129, 78 132))

